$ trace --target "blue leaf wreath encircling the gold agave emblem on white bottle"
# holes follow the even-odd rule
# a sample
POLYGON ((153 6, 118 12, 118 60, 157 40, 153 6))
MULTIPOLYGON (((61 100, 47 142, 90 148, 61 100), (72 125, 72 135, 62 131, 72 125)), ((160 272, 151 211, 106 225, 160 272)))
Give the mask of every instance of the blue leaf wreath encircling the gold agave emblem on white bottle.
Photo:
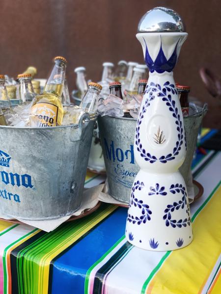
MULTIPOLYGON (((156 161, 160 161, 161 163, 166 163, 167 161, 175 159, 175 156, 179 154, 181 150, 181 146, 183 144, 184 138, 184 129, 182 126, 182 118, 180 114, 178 114, 178 108, 175 105, 175 100, 172 100, 170 93, 177 94, 176 88, 173 84, 170 84, 169 81, 164 83, 163 89, 159 84, 155 84, 153 82, 150 85, 147 85, 145 93, 149 93, 149 96, 146 98, 145 103, 142 107, 142 110, 138 116, 138 122, 136 127, 136 135, 135 135, 135 144, 137 146, 137 150, 140 153, 140 156, 145 160, 149 161, 150 163, 155 163, 156 161), (168 94, 169 93, 169 94, 168 94), (150 154, 147 152, 140 142, 140 125, 142 123, 144 114, 147 111, 147 108, 150 106, 150 101, 154 100, 155 98, 160 97, 163 101, 166 102, 166 105, 169 107, 169 111, 171 112, 173 118, 175 119, 175 123, 177 125, 177 141, 176 146, 173 148, 171 153, 166 155, 162 155, 161 157, 157 158, 155 155, 150 154)), ((186 144, 186 140, 185 140, 186 144)))

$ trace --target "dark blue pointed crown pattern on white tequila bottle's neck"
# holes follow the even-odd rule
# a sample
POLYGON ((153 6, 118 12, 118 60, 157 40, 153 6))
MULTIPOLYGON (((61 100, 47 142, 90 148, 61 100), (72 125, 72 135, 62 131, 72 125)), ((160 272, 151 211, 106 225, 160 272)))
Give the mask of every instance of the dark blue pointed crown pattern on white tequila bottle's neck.
MULTIPOLYGON (((144 38, 143 38, 144 40, 144 38)), ((144 40, 145 45, 146 45, 146 41, 144 40)), ((149 71, 151 73, 153 73, 154 71, 156 71, 157 73, 164 73, 164 72, 172 72, 172 70, 174 69, 176 62, 177 62, 177 53, 176 53, 176 49, 177 49, 177 45, 179 43, 176 43, 176 46, 173 50, 172 55, 169 57, 169 59, 166 59, 166 56, 164 54, 164 51, 162 49, 162 41, 161 41, 161 48, 159 50, 159 53, 157 55, 157 58, 155 59, 155 61, 153 61, 153 59, 150 57, 147 45, 146 45, 146 52, 145 52, 145 62, 146 65, 149 69, 149 71)))

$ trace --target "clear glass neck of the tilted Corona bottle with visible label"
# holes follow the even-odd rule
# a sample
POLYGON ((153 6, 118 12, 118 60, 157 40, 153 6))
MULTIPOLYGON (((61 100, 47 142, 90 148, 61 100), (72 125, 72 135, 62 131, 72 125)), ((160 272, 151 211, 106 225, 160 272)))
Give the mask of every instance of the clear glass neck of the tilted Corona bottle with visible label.
POLYGON ((53 94, 61 97, 65 80, 66 63, 62 60, 55 60, 55 65, 45 85, 43 94, 53 94))

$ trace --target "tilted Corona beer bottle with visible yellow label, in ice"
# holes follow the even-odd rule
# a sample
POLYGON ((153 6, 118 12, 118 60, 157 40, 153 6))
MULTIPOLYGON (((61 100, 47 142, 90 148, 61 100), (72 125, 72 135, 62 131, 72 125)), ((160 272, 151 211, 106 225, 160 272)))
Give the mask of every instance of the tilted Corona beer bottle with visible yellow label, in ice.
POLYGON ((63 119, 63 106, 61 94, 63 91, 66 59, 57 56, 55 65, 45 85, 44 92, 35 97, 31 107, 31 114, 41 120, 41 127, 61 125, 63 119))

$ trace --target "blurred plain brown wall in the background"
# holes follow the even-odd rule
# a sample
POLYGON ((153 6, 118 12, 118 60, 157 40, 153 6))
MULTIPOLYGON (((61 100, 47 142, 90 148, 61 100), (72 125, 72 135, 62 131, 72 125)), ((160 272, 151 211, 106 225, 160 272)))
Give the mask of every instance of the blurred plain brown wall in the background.
POLYGON ((135 37, 141 16, 155 6, 176 10, 189 37, 174 71, 175 80, 190 85, 191 95, 209 104, 204 125, 221 127, 221 101, 205 89, 199 68, 221 73, 221 2, 219 0, 1 0, 0 73, 17 76, 29 65, 47 77, 52 58, 68 60, 69 88, 73 69, 85 66, 87 78, 101 78, 102 63, 120 59, 143 63, 135 37))

